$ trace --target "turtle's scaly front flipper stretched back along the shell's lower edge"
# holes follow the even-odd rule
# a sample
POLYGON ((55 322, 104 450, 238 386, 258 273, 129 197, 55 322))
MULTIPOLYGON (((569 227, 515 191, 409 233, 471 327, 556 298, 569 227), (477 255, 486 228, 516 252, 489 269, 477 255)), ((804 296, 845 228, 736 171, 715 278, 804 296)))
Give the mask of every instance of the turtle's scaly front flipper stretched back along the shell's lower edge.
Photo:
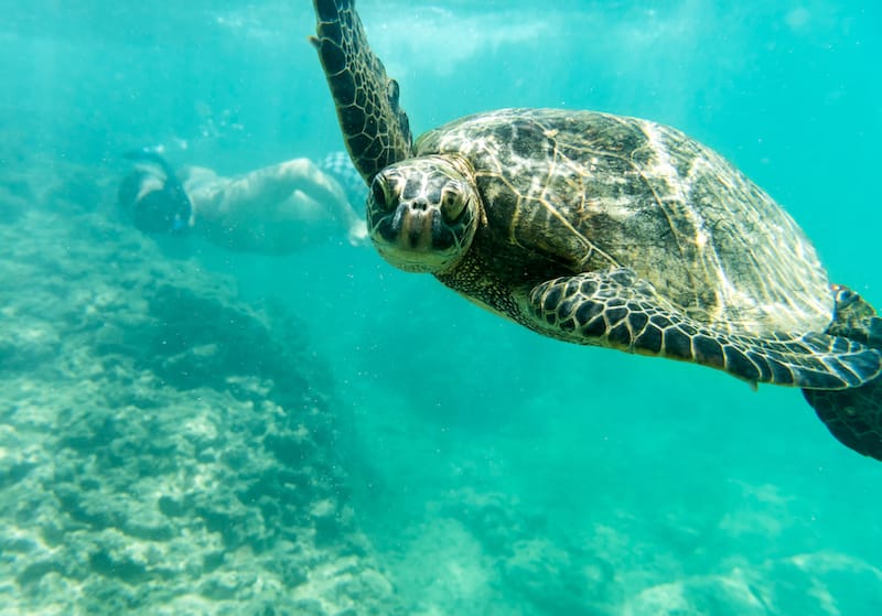
POLYGON ((880 353, 838 336, 717 332, 679 312, 627 269, 545 282, 530 293, 530 306, 550 336, 695 361, 751 383, 843 389, 882 370, 880 353))

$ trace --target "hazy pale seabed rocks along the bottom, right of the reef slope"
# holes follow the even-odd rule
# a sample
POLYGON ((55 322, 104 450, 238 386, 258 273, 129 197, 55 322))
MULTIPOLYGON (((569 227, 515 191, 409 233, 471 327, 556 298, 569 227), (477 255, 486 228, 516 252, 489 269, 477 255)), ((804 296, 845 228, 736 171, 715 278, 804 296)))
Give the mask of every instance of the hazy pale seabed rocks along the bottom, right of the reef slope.
MULTIPOLYGON (((882 610, 882 571, 857 556, 817 551, 763 560, 730 552, 702 563, 697 554, 682 552, 681 544, 660 541, 654 520, 622 512, 617 523, 606 523, 573 532, 544 523, 510 496, 458 490, 431 506, 422 523, 399 528, 397 548, 384 558, 399 582, 406 613, 415 615, 840 616, 882 610)), ((679 523, 688 526, 690 516, 684 514, 679 523)), ((716 534, 709 530, 704 537, 711 549, 730 531, 720 528, 716 534)))

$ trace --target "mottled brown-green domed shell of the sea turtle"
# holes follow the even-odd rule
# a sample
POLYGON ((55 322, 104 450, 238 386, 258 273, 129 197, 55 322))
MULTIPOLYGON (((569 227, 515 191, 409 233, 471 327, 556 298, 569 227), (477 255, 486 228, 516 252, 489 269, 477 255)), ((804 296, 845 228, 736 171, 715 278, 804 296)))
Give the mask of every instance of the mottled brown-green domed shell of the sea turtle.
POLYGON ((486 223, 439 277, 525 325, 529 290, 630 268, 684 314, 728 333, 820 332, 824 267, 762 188, 713 150, 647 120, 502 109, 429 131, 416 155, 464 158, 486 223))

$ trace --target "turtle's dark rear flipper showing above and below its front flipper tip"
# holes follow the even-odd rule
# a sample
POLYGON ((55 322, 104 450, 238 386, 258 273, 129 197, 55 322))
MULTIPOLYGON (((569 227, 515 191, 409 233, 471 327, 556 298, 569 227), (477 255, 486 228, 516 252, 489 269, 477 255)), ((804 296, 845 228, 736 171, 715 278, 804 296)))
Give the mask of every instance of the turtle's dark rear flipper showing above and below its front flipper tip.
MULTIPOLYGON (((882 318, 873 306, 851 289, 832 290, 836 310, 827 333, 882 348, 882 318)), ((835 391, 804 389, 803 395, 842 444, 882 461, 882 378, 835 391)))

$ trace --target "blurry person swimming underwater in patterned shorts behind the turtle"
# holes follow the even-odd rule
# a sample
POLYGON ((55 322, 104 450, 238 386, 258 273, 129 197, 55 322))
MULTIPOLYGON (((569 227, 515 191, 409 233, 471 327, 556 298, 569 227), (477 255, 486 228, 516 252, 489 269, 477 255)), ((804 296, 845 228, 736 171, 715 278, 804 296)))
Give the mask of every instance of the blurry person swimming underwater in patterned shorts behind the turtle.
POLYGON ((236 251, 286 255, 345 234, 366 237, 351 202, 366 188, 345 153, 294 159, 234 177, 202 166, 175 172, 154 150, 127 152, 136 169, 119 186, 125 215, 148 234, 195 233, 236 251))

